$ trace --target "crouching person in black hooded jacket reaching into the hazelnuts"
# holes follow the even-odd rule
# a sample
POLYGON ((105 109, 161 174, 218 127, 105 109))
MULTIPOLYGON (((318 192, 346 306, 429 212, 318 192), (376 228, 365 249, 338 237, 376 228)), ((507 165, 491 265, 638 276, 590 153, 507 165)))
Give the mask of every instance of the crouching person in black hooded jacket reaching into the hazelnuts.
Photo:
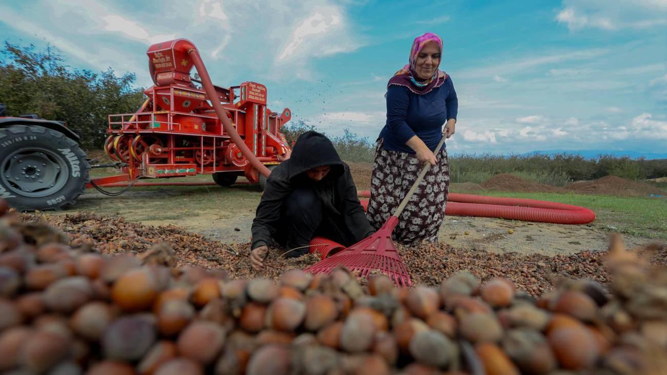
POLYGON ((297 139, 291 157, 271 171, 252 224, 250 260, 263 267, 271 239, 301 256, 310 240, 322 236, 352 246, 374 228, 357 198, 350 167, 317 131, 297 139))

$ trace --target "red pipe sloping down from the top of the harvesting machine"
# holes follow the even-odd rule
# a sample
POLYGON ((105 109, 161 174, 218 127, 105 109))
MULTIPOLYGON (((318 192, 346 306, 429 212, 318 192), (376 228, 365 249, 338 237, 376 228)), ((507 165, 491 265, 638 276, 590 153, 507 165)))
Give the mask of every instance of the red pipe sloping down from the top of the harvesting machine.
POLYGON ((227 115, 225 114, 225 109, 223 109, 222 105, 220 104, 219 100, 217 99, 217 94, 215 93, 215 88, 213 87, 213 83, 211 82, 211 77, 208 75, 208 71, 206 70, 206 67, 204 66, 203 61, 201 61, 201 57, 199 56, 199 51, 197 51, 197 48, 192 45, 192 47, 189 49, 188 54, 190 58, 192 59, 192 63, 195 65, 195 68, 197 68, 197 73, 199 73, 199 78, 201 79, 201 85, 204 87, 204 90, 206 91, 206 95, 209 97, 209 100, 211 101, 211 105, 213 105, 213 109, 215 109, 215 113, 217 114, 217 117, 220 119, 222 122, 223 127, 225 128, 225 131, 229 134, 231 137, 231 141, 234 142, 234 144, 239 147, 239 150, 241 153, 243 153, 243 156, 245 156, 248 161, 250 161, 251 165, 259 171, 259 173, 263 174, 265 177, 269 176, 269 169, 265 167, 257 157, 250 151, 250 149, 245 145, 245 142, 241 137, 239 137, 239 133, 236 132, 236 129, 234 129, 233 125, 231 125, 231 121, 229 121, 229 118, 227 118, 227 115))

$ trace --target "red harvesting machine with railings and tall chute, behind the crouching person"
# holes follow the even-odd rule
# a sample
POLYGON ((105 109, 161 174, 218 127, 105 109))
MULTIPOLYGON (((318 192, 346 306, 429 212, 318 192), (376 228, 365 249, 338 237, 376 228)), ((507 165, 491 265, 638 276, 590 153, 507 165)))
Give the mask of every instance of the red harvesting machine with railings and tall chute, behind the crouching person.
POLYGON ((123 174, 93 183, 202 173, 219 185, 231 185, 239 175, 263 183, 265 166, 270 169, 289 151, 280 132, 291 118, 289 109, 271 111, 260 83, 213 85, 186 39, 151 45, 147 55, 155 83, 143 91, 147 99, 136 113, 109 115, 105 151, 122 163, 123 174), (201 80, 190 77, 193 66, 201 80))

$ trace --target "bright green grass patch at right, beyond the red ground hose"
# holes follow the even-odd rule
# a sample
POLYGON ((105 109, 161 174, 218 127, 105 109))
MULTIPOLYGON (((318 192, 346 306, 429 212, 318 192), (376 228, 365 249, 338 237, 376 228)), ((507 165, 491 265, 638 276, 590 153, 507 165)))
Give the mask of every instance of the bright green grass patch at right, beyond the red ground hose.
POLYGON ((592 226, 645 238, 667 240, 667 199, 592 196, 556 193, 484 192, 484 195, 528 198, 590 208, 596 214, 592 226))

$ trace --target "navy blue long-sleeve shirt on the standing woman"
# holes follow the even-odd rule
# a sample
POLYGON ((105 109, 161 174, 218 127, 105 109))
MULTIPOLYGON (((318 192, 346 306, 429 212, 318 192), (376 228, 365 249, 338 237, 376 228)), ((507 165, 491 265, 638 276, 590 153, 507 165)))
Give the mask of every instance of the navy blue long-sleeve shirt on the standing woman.
POLYGON ((382 147, 392 151, 415 153, 406 145, 417 135, 432 151, 442 137, 442 125, 456 119, 458 98, 454 83, 448 76, 442 86, 430 93, 418 95, 400 85, 387 89, 387 123, 380 131, 382 147))

